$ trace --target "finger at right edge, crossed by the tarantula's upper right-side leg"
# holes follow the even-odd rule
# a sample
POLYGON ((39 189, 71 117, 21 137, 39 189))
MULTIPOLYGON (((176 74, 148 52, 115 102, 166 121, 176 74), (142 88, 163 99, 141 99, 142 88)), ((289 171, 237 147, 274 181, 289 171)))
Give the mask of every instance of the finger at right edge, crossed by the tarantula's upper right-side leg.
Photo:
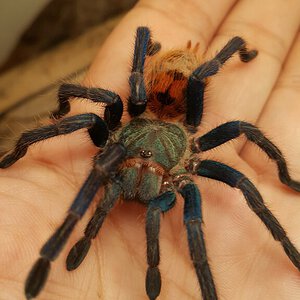
MULTIPOLYGON (((258 126, 281 149, 292 170, 292 177, 300 180, 300 33, 294 41, 281 76, 258 120, 258 126)), ((268 159, 257 159, 253 145, 246 144, 241 156, 259 174, 276 174, 276 167, 268 159)), ((262 155, 263 157, 263 155, 262 155)))

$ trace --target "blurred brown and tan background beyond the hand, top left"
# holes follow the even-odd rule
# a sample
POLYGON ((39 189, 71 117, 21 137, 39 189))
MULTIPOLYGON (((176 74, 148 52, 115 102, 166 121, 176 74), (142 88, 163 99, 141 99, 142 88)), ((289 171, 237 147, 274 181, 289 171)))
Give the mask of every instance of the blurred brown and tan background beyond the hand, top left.
POLYGON ((0 0, 0 155, 78 82, 137 0, 0 0))

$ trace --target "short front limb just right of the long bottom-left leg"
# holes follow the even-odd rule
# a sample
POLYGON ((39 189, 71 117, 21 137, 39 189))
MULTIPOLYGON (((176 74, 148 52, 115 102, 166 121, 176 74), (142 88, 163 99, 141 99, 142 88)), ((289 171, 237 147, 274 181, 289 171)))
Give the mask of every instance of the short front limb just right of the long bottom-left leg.
POLYGON ((116 204, 121 194, 121 186, 118 182, 114 182, 111 186, 105 188, 104 199, 98 204, 96 211, 90 219, 82 237, 70 250, 66 265, 67 270, 72 271, 79 267, 86 257, 91 240, 94 239, 99 232, 107 214, 116 204))

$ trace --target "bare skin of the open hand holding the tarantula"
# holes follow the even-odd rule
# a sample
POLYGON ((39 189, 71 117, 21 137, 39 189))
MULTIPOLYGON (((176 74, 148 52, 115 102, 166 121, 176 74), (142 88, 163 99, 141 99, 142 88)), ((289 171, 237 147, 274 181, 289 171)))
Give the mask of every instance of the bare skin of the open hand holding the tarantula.
MULTIPOLYGON (((192 40, 200 43, 204 58, 240 35, 259 55, 248 64, 236 56, 211 79, 197 135, 230 120, 252 122, 282 150, 292 177, 300 180, 299 24, 298 0, 140 1, 100 49, 85 84, 113 90, 126 101, 134 34, 141 25, 152 29, 163 50, 192 40)), ((70 115, 101 113, 95 104, 75 102, 70 115)), ((96 152, 81 130, 38 143, 15 165, 0 170, 0 299, 24 299, 25 278, 41 246, 63 221, 96 152)), ((300 249, 300 195, 279 181, 275 164, 262 151, 239 138, 203 158, 245 173, 300 249)), ((300 299, 299 271, 241 192, 213 180, 195 180, 202 194, 206 245, 219 298, 300 299)), ((147 299, 145 207, 137 203, 117 205, 82 265, 66 270, 66 256, 82 236, 93 207, 51 264, 38 299, 147 299)), ((160 247, 159 299, 201 299, 180 197, 162 218, 160 247)))

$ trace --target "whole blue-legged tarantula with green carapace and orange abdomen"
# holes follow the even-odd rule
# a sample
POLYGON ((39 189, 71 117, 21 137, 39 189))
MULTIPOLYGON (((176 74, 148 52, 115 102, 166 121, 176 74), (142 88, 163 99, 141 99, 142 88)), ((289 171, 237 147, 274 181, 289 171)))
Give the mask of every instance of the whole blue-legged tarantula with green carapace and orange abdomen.
POLYGON ((66 261, 68 270, 74 270, 81 264, 91 240, 118 200, 135 200, 147 207, 146 292, 149 299, 156 299, 161 290, 160 217, 174 206, 178 192, 184 199, 183 219, 188 246, 203 299, 218 299, 203 235, 201 196, 192 175, 222 181, 241 190, 250 209, 300 269, 299 252, 251 181, 232 167, 217 161, 201 160, 197 155, 245 134, 249 141, 276 162, 281 182, 299 192, 300 183, 291 179, 280 150, 257 127, 244 121, 230 121, 193 138, 201 122, 207 78, 215 75, 234 53, 238 52, 240 60, 246 63, 258 52, 248 50, 246 42, 238 36, 204 63, 196 52, 197 45, 193 48, 188 42, 185 49, 162 53, 160 44, 152 41, 150 30, 139 27, 129 77, 129 122, 121 125, 123 103, 112 91, 63 84, 58 92, 59 108, 53 113, 54 124, 23 133, 14 150, 0 161, 0 168, 7 168, 24 156, 31 144, 82 128, 88 129, 91 140, 101 149, 94 157, 93 168, 70 206, 67 217, 42 247, 40 258, 28 275, 25 284, 27 299, 36 297, 42 290, 50 262, 62 251, 74 226, 102 186, 105 186, 104 197, 86 226, 84 236, 69 252, 66 261), (69 100, 74 97, 105 103, 104 120, 92 113, 64 117, 70 110, 69 100))

